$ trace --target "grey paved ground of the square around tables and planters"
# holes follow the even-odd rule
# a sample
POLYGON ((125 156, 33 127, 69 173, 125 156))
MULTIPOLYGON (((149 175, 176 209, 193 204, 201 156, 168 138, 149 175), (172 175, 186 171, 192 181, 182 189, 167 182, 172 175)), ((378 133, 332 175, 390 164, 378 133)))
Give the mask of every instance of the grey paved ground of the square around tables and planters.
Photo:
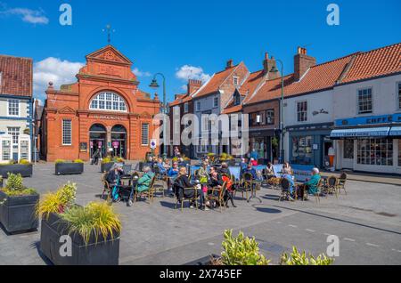
MULTIPOLYGON (((85 166, 85 174, 56 176, 53 164, 34 168, 24 180, 40 193, 57 190, 63 183, 78 184, 77 202, 100 199, 100 166, 85 166)), ((278 202, 279 190, 262 188, 250 203, 237 194, 235 204, 223 213, 174 207, 173 198, 155 198, 152 205, 115 204, 122 215, 120 264, 184 264, 219 254, 225 229, 255 236, 261 251, 277 263, 292 245, 314 255, 325 253, 328 235, 340 238, 335 264, 401 263, 401 187, 350 181, 348 195, 295 203, 278 202)), ((40 230, 39 230, 40 231, 40 230)), ((47 264, 38 253, 40 232, 7 236, 0 229, 0 264, 47 264)))

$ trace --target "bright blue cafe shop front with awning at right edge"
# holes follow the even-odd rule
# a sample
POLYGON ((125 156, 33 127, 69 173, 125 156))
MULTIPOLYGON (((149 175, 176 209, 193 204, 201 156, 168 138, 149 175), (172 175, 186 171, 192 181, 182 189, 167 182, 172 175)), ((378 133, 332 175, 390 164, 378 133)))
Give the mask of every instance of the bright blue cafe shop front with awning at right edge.
POLYGON ((335 121, 336 168, 401 174, 401 114, 335 121))

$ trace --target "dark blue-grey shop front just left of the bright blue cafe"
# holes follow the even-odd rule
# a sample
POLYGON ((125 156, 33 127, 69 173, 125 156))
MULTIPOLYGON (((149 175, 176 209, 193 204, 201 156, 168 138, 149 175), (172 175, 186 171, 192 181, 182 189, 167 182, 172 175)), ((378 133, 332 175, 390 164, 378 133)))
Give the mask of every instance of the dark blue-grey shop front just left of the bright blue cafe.
POLYGON ((286 128, 289 134, 290 163, 304 166, 330 167, 331 123, 297 125, 286 128))

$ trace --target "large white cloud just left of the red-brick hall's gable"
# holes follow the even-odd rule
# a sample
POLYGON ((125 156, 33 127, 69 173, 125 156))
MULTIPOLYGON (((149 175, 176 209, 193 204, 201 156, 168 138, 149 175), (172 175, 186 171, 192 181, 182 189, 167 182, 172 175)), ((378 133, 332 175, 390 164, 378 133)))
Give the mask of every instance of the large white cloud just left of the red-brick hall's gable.
POLYGON ((34 65, 34 93, 43 98, 49 82, 53 82, 55 88, 76 82, 75 76, 84 65, 80 62, 61 61, 54 57, 38 61, 34 65))

